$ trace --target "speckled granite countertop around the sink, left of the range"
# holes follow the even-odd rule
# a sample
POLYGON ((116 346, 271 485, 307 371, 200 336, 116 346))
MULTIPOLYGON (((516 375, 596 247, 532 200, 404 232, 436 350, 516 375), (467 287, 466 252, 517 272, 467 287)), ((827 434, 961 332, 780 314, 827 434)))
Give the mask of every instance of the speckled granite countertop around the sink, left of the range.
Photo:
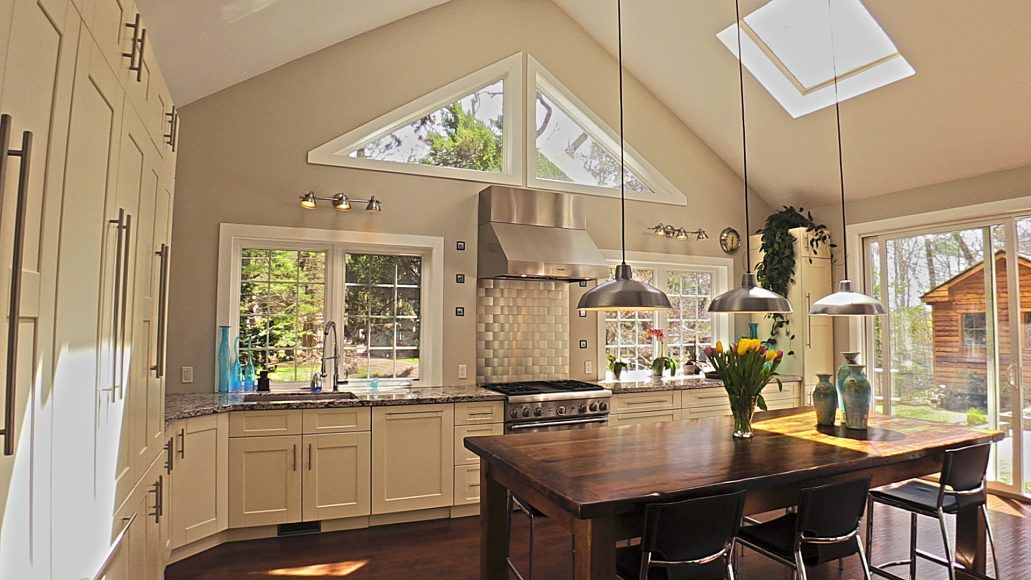
POLYGON ((244 401, 242 393, 193 393, 168 394, 165 396, 165 423, 230 411, 269 411, 282 409, 325 409, 329 407, 377 407, 388 405, 429 405, 432 403, 470 403, 476 401, 504 401, 504 396, 477 386, 405 386, 383 387, 377 395, 367 388, 348 391, 344 387, 341 398, 321 398, 309 400, 276 401, 279 395, 304 393, 275 391, 246 394, 267 398, 267 401, 244 401), (345 399, 345 393, 354 393, 355 399, 345 399))

